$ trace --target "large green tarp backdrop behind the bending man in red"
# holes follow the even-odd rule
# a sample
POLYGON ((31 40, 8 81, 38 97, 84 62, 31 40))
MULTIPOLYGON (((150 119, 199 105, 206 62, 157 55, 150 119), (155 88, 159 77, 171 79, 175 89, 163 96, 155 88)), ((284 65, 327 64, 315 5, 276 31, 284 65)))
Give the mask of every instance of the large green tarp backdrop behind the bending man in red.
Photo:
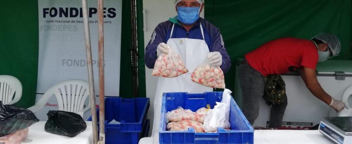
POLYGON ((330 32, 341 41, 333 59, 351 60, 351 9, 351 0, 206 0, 205 19, 220 29, 231 56, 226 87, 234 90, 236 58, 280 37, 330 32))

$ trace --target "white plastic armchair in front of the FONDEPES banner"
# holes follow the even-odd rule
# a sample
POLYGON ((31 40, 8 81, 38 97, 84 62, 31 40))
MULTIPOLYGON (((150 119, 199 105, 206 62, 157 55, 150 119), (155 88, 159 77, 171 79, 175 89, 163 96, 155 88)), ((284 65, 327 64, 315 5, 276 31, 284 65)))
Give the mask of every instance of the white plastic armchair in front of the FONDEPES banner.
POLYGON ((86 108, 83 108, 89 95, 89 84, 81 79, 69 79, 52 86, 44 93, 37 104, 28 109, 32 110, 33 113, 37 112, 43 108, 52 95, 56 96, 59 110, 77 113, 83 118, 84 112, 90 109, 90 102, 86 108))

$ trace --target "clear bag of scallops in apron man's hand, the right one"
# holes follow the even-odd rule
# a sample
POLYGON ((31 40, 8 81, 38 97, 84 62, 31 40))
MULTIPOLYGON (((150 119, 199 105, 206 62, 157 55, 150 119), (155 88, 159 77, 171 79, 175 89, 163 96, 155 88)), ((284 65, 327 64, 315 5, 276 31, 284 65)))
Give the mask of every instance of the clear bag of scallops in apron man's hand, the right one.
POLYGON ((220 66, 209 64, 208 58, 193 71, 191 80, 211 88, 225 88, 224 72, 220 66))

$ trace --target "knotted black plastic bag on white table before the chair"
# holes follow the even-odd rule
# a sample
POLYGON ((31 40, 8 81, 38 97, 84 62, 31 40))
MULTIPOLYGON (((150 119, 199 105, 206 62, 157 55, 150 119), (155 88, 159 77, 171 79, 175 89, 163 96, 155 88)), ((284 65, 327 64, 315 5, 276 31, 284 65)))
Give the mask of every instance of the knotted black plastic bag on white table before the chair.
POLYGON ((62 136, 75 137, 86 130, 87 124, 81 115, 61 110, 49 110, 45 131, 62 136))

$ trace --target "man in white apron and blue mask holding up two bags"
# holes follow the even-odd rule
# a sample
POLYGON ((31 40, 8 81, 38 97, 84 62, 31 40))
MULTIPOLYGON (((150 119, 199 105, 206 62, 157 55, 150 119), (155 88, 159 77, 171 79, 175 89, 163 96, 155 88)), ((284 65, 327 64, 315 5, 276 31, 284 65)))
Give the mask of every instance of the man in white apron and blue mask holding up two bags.
POLYGON ((168 53, 170 47, 178 53, 189 70, 175 78, 158 78, 154 100, 153 143, 159 143, 159 121, 164 92, 203 93, 213 91, 191 81, 191 73, 205 59, 227 72, 230 56, 218 28, 199 17, 203 0, 175 0, 177 16, 158 24, 145 49, 145 64, 154 68, 159 55, 168 53))

